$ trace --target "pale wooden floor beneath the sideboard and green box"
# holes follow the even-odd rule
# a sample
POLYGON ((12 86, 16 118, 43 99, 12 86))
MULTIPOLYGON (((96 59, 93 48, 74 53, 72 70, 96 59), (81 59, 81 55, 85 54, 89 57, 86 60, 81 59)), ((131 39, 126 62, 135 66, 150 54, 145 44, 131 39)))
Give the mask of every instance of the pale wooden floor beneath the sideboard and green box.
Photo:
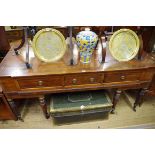
POLYGON ((61 120, 45 119, 37 100, 28 100, 22 105, 20 121, 0 121, 0 128, 56 128, 56 129, 96 129, 96 128, 155 128, 155 97, 147 97, 137 112, 132 110, 133 98, 122 95, 115 114, 92 117, 71 117, 61 120))

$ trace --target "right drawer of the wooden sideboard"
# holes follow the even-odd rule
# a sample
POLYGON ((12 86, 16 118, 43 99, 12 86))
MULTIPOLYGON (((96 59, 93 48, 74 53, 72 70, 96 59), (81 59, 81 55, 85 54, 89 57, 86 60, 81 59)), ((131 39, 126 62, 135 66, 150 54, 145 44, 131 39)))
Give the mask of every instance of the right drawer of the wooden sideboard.
POLYGON ((137 81, 140 77, 141 73, 139 72, 107 73, 104 82, 137 81))

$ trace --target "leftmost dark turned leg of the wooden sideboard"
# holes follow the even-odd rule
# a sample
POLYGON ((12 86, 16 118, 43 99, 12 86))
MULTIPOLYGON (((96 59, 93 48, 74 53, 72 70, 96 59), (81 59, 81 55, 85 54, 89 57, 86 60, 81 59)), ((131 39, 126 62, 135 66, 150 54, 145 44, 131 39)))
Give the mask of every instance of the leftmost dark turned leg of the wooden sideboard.
POLYGON ((18 120, 24 122, 24 120, 21 117, 20 112, 17 110, 17 106, 15 105, 14 101, 12 99, 7 99, 8 103, 13 111, 13 113, 16 115, 16 117, 18 118, 18 120))

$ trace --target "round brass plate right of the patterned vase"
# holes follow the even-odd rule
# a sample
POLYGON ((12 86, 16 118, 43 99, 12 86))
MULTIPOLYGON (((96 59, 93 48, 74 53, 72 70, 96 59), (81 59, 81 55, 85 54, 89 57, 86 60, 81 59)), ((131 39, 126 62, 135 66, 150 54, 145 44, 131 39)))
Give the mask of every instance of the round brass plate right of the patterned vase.
POLYGON ((109 50, 116 60, 129 61, 139 51, 139 38, 132 30, 120 29, 110 38, 109 50))

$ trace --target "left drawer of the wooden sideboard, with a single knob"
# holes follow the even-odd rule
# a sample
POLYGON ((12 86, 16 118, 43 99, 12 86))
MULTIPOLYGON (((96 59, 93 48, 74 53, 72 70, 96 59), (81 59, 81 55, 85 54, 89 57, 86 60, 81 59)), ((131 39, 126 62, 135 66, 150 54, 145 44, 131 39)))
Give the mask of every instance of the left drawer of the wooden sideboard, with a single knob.
POLYGON ((61 87, 64 85, 64 79, 62 76, 52 76, 46 78, 23 78, 18 79, 18 84, 21 89, 26 88, 40 88, 40 87, 61 87))

